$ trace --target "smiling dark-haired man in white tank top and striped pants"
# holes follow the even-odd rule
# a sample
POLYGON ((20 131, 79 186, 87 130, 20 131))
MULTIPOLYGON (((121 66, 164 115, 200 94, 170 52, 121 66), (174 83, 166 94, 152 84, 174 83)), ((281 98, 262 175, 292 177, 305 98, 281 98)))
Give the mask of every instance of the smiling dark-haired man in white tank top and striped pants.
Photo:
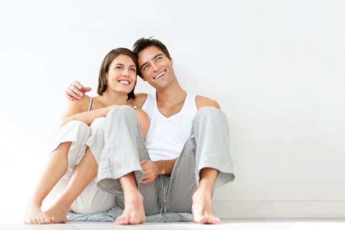
MULTIPOLYGON (((163 43, 142 38, 133 45, 133 53, 139 76, 156 92, 137 94, 131 101, 150 117, 146 143, 139 134, 129 133, 130 123, 136 121, 128 108, 107 115, 97 180, 105 191, 124 196, 118 202, 124 211, 115 223, 139 224, 145 222, 145 214, 166 212, 191 212, 196 223, 220 223, 211 210, 213 188, 234 179, 226 115, 216 101, 181 88, 163 43), (124 123, 121 116, 133 120, 124 123), (112 146, 118 136, 126 141, 112 146), (131 150, 118 151, 122 148, 131 150), (118 159, 124 162, 118 164, 118 159)), ((75 81, 66 97, 80 99, 90 90, 75 81)))

